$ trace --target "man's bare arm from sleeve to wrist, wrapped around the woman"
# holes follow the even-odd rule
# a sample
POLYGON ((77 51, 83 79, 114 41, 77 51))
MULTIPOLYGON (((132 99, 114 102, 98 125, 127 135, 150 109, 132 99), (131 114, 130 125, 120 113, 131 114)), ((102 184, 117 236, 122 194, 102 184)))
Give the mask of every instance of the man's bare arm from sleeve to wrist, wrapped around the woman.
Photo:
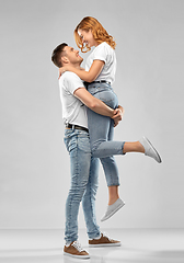
POLYGON ((108 107, 101 100, 94 98, 92 94, 90 94, 90 92, 88 92, 88 90, 85 90, 85 88, 77 89, 73 94, 95 113, 108 117, 113 117, 116 114, 116 110, 108 107))

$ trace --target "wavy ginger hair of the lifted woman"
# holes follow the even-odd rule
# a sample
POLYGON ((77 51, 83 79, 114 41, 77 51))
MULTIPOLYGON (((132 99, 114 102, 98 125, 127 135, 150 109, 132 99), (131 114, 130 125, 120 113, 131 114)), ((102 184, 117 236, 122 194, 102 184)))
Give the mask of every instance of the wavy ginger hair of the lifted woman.
POLYGON ((101 25, 101 23, 96 19, 87 16, 77 25, 74 30, 74 39, 77 46, 81 49, 82 53, 87 53, 91 50, 91 48, 82 43, 82 39, 78 34, 78 30, 84 30, 87 32, 91 30, 93 37, 97 42, 97 44, 106 42, 113 49, 115 49, 116 43, 113 39, 113 36, 108 35, 106 30, 101 25))

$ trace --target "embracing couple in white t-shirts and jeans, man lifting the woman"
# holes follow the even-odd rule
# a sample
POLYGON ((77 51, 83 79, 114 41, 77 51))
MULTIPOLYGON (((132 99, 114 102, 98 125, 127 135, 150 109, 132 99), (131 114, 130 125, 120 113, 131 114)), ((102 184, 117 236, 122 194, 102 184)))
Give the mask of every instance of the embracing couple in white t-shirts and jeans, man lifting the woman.
POLYGON ((77 46, 89 52, 85 69, 79 50, 62 43, 51 55, 59 68, 59 88, 65 121, 65 144, 70 156, 71 185, 66 202, 66 244, 64 253, 89 259, 78 241, 78 213, 82 202, 90 247, 120 245, 120 241, 100 230, 95 216, 99 160, 103 165, 108 188, 108 204, 101 219, 107 220, 125 203, 118 195, 119 175, 115 155, 141 152, 161 162, 151 142, 142 137, 137 141, 114 141, 114 127, 122 121, 124 108, 112 84, 116 71, 116 43, 94 18, 84 18, 74 30, 77 46))

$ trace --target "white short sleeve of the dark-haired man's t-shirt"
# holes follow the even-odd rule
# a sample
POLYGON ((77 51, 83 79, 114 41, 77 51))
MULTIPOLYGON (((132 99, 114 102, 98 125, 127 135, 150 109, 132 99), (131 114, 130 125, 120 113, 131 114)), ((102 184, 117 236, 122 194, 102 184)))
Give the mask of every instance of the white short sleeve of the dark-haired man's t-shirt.
POLYGON ((71 94, 79 88, 84 88, 82 80, 73 72, 65 72, 65 87, 71 94))

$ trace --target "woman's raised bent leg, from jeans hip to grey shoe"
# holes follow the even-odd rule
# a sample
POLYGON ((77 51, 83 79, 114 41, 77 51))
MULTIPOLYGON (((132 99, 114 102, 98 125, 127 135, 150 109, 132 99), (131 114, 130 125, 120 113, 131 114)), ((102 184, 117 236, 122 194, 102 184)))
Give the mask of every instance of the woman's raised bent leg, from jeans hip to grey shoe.
MULTIPOLYGON (((118 100, 111 85, 94 83, 89 85, 88 90, 92 95, 103 101, 110 107, 117 107, 118 100)), ((105 118, 111 119, 110 117, 99 115, 91 110, 88 111, 91 149, 94 157, 104 158, 115 155, 125 155, 126 152, 142 152, 146 156, 153 158, 157 162, 162 162, 159 153, 146 137, 142 137, 139 141, 135 142, 113 141, 106 139, 106 133, 108 133, 110 126, 104 125, 106 123, 105 118)), ((108 125, 110 124, 111 122, 108 121, 108 125)))

